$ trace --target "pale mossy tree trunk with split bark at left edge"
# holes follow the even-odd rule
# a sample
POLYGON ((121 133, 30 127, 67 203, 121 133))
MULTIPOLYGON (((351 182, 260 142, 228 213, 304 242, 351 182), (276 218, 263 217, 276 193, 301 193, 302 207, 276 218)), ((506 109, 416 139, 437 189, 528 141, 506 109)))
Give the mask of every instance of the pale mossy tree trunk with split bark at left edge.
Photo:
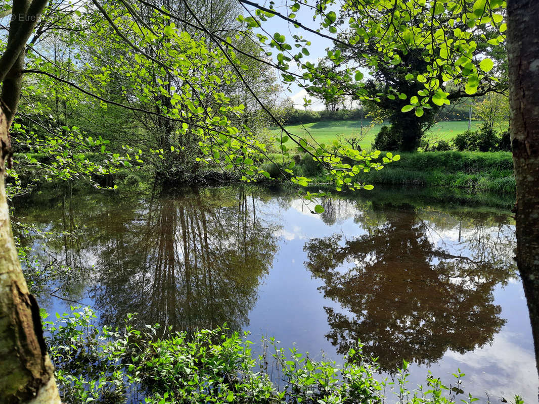
POLYGON ((11 232, 4 187, 10 145, 2 109, 0 142, 0 398, 6 404, 60 404, 39 308, 26 286, 11 232))

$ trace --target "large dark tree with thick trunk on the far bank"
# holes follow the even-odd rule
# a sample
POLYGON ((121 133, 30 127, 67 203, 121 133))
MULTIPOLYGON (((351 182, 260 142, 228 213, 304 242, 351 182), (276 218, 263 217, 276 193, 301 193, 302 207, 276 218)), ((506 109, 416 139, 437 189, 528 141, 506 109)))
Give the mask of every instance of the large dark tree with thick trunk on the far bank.
MULTIPOLYGON (((447 99, 451 100, 451 102, 466 97, 488 94, 493 91, 499 92, 507 88, 507 81, 503 80, 505 73, 503 69, 505 66, 503 64, 503 59, 505 59, 504 46, 503 43, 500 44, 496 39, 499 36, 496 26, 490 26, 489 24, 479 24, 478 29, 469 31, 471 35, 468 36, 468 41, 475 44, 475 48, 468 49, 466 54, 467 62, 476 64, 484 57, 492 58, 496 61, 495 68, 490 71, 490 75, 482 79, 481 87, 478 88, 477 92, 471 94, 470 91, 465 91, 464 85, 453 85, 455 81, 457 83, 460 81, 459 75, 461 73, 456 72, 457 74, 453 76, 452 80, 447 80, 443 75, 443 69, 438 69, 438 72, 436 72, 436 69, 432 68, 431 55, 439 56, 444 64, 449 65, 456 65, 458 59, 462 57, 459 52, 451 53, 447 51, 447 48, 452 47, 455 41, 459 41, 461 38, 460 33, 468 30, 466 13, 472 10, 472 2, 461 3, 460 10, 452 9, 451 3, 447 5, 448 10, 452 11, 453 23, 446 25, 443 17, 439 20, 443 30, 443 41, 432 40, 430 46, 424 46, 423 43, 417 41, 407 41, 406 47, 395 50, 392 59, 387 58, 386 51, 380 48, 381 39, 377 36, 369 37, 368 40, 359 42, 354 46, 336 44, 336 49, 342 51, 343 61, 341 64, 344 63, 347 67, 369 68, 371 60, 373 58, 377 59, 376 69, 371 69, 370 71, 374 80, 368 80, 365 83, 365 96, 369 97, 369 99, 379 97, 379 105, 389 115, 391 131, 400 138, 400 150, 417 150, 421 137, 435 122, 437 113, 441 108, 445 107, 445 103, 440 103, 433 99, 430 108, 423 109, 423 114, 413 115, 402 112, 402 108, 409 104, 405 98, 398 96, 388 97, 387 95, 421 95, 425 91, 423 82, 426 81, 423 72, 429 71, 429 68, 431 68, 432 75, 438 80, 438 89, 447 93, 447 99), (414 76, 417 80, 410 80, 414 76)), ((437 4, 434 2, 426 3, 414 13, 409 11, 411 25, 427 25, 431 16, 444 16, 445 13, 440 12, 439 7, 438 10, 436 9, 437 4)), ((343 19, 354 17, 354 19, 358 20, 365 18, 369 14, 370 19, 374 21, 367 25, 376 23, 376 13, 369 13, 362 10, 362 8, 347 10, 343 19)), ((383 24, 383 29, 391 29, 391 25, 394 23, 394 21, 388 21, 384 18, 381 18, 380 22, 383 24)), ((431 25, 431 30, 436 29, 434 27, 436 27, 436 24, 431 25)), ((343 33, 339 35, 339 38, 346 38, 346 42, 350 43, 349 36, 355 35, 356 30, 343 29, 343 33)), ((406 32, 404 31, 403 39, 406 41, 405 35, 406 32)), ((441 35, 441 31, 437 30, 436 35, 441 35)))

